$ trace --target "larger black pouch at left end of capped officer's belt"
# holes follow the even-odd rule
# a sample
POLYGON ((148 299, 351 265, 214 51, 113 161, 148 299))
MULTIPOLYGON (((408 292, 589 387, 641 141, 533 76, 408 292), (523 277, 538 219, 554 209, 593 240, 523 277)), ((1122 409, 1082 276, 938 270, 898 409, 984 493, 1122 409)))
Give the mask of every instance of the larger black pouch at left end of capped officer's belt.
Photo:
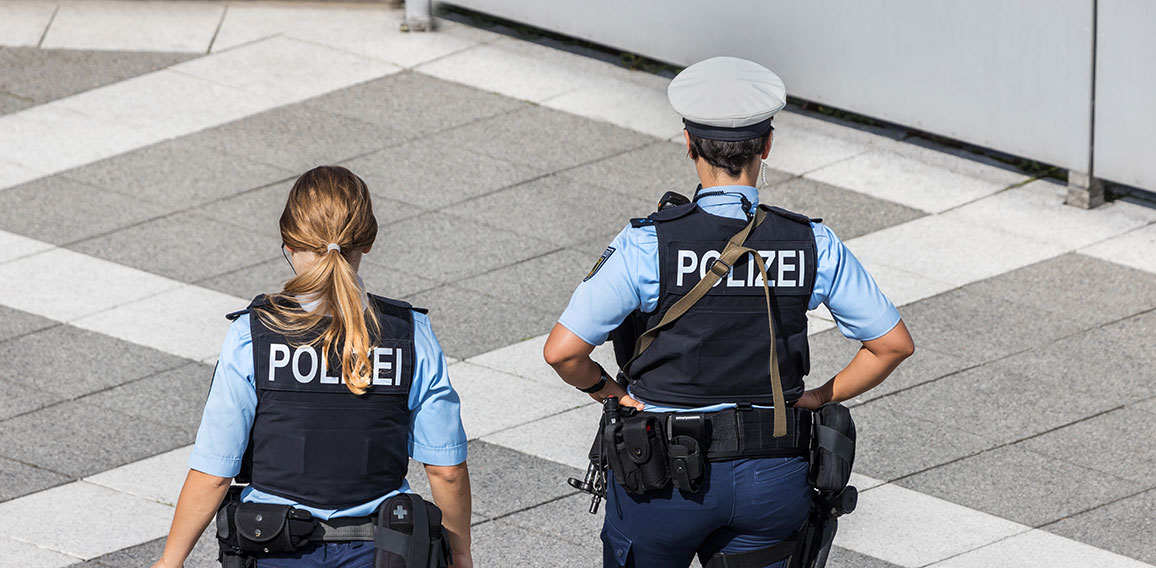
POLYGON ((614 479, 627 493, 640 495, 670 485, 666 431, 653 414, 607 425, 602 442, 614 479))

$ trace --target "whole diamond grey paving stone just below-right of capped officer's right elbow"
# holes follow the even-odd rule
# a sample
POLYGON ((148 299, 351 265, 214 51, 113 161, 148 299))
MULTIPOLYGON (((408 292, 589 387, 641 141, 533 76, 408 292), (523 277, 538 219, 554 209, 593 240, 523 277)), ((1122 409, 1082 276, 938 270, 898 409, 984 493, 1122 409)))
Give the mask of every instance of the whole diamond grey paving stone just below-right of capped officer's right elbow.
POLYGON ((884 400, 924 420, 1005 443, 1113 408, 1074 392, 1062 381, 1027 377, 996 366, 970 369, 880 401, 884 400))

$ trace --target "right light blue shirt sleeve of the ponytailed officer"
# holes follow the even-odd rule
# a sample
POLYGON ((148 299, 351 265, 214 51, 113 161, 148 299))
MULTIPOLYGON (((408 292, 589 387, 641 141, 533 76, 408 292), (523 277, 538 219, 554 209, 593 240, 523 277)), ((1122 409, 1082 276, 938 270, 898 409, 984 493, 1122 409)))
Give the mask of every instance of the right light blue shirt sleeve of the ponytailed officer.
POLYGON ((414 382, 409 388, 409 457, 429 465, 466 460, 461 399, 430 320, 414 312, 414 382))

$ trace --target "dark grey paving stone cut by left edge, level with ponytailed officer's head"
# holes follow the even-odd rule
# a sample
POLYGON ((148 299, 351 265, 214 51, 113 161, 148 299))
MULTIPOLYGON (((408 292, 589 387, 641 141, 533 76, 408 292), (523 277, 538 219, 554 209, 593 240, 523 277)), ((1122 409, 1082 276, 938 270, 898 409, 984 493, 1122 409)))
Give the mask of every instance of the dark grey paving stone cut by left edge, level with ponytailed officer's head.
POLYGON ((64 176, 40 178, 0 192, 0 229, 52 244, 73 243, 170 211, 64 176))

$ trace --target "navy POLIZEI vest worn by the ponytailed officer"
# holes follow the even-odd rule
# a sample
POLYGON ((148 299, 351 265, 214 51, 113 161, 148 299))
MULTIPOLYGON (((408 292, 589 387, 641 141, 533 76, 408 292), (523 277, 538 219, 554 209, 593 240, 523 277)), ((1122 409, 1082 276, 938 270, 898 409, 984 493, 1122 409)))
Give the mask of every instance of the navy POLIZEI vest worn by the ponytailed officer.
MULTIPOLYGON (((373 384, 362 396, 342 382, 338 356, 309 345, 320 331, 287 338, 250 316, 257 415, 243 469, 253 487, 323 509, 354 507, 401 487, 409 459, 413 310, 424 310, 369 300, 380 334, 371 338, 373 384)), ((267 302, 258 296, 249 310, 267 302)))

